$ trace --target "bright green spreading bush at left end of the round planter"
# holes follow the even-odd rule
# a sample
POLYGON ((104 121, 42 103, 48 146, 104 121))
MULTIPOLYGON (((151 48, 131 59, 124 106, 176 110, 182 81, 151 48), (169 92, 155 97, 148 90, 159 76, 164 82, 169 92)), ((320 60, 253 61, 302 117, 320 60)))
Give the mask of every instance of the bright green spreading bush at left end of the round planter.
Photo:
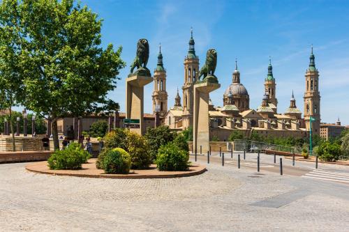
POLYGON ((64 150, 56 150, 47 160, 48 167, 55 170, 81 169, 91 155, 80 144, 71 143, 64 150))

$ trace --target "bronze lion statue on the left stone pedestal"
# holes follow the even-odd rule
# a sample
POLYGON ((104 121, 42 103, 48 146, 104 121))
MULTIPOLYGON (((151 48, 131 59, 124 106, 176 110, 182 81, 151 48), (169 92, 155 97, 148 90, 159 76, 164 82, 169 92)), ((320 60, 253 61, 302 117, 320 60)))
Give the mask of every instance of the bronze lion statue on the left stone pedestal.
POLYGON ((149 43, 147 39, 140 39, 137 42, 137 52, 135 56, 135 60, 131 64, 130 73, 133 73, 133 70, 137 67, 137 69, 143 68, 147 72, 150 71, 147 69, 147 63, 149 59, 149 43))

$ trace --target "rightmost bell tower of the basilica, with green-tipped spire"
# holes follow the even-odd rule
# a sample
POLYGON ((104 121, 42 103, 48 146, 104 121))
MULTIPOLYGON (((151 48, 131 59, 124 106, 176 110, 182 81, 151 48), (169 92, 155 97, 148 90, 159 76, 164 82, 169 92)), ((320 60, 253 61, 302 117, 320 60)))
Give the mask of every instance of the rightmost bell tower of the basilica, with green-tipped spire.
POLYGON ((309 68, 306 70, 305 81, 306 91, 304 93, 304 121, 306 130, 310 130, 310 118, 312 118, 311 129, 313 134, 320 134, 320 92, 319 92, 319 72, 315 68, 315 56, 313 45, 311 45, 311 55, 309 57, 309 68))

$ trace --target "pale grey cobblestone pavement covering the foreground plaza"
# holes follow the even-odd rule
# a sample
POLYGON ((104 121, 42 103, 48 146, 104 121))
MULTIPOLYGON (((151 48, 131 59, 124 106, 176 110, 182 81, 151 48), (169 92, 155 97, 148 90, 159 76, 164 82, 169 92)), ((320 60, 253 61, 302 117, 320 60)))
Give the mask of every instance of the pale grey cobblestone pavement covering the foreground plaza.
POLYGON ((48 176, 24 166, 0 165, 1 231, 349 228, 349 187, 341 183, 215 163, 200 176, 143 180, 48 176))

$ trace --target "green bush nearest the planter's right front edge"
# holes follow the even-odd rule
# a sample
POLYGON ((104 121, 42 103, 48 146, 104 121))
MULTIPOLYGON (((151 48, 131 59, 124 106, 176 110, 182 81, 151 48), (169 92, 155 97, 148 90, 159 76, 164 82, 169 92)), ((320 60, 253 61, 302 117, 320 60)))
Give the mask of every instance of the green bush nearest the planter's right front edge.
POLYGON ((158 149, 156 165, 159 171, 186 171, 189 153, 170 142, 158 149))

